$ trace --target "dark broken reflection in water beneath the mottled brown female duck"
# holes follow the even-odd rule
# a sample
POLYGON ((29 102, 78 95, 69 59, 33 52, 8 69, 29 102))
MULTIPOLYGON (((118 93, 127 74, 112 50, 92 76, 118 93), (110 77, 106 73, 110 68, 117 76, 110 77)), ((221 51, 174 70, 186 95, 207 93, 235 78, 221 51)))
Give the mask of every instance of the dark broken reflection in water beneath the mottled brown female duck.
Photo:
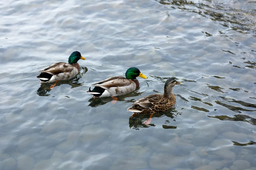
MULTIPOLYGON (((154 114, 151 118, 162 118, 164 116, 167 116, 169 118, 172 118, 174 119, 175 117, 181 115, 182 113, 181 112, 178 112, 176 110, 175 107, 167 110, 167 111, 164 111, 164 112, 161 112, 161 113, 158 113, 158 114, 154 114)), ((144 121, 147 120, 147 118, 149 117, 149 115, 136 115, 136 116, 131 116, 129 118, 129 127, 130 128, 133 128, 133 129, 136 129, 136 130, 139 130, 139 128, 148 128, 150 126, 156 126, 155 124, 145 124, 144 121)), ((162 125, 162 127, 164 129, 177 129, 177 126, 171 126, 171 125, 167 125, 167 123, 170 123, 169 120, 165 120, 165 124, 162 125)))

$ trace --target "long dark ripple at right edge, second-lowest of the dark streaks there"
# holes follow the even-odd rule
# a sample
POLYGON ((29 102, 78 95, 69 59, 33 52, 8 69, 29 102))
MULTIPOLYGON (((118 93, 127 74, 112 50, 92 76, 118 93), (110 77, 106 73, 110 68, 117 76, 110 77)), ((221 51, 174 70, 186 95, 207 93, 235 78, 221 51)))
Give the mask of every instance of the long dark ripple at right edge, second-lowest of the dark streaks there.
POLYGON ((248 122, 252 125, 256 125, 256 119, 252 118, 250 116, 247 115, 233 115, 233 117, 229 117, 227 115, 221 115, 221 116, 208 116, 210 118, 217 118, 219 120, 231 120, 231 121, 244 121, 244 122, 248 122))

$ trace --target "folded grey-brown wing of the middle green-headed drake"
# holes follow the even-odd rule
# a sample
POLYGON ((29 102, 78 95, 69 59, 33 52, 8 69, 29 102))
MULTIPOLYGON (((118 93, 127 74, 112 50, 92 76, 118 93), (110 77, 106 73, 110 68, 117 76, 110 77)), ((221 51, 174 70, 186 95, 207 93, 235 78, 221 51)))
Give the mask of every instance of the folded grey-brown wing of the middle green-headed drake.
POLYGON ((109 89, 111 87, 124 87, 129 86, 133 81, 124 78, 122 76, 111 77, 106 80, 93 84, 93 87, 101 87, 103 89, 109 89))

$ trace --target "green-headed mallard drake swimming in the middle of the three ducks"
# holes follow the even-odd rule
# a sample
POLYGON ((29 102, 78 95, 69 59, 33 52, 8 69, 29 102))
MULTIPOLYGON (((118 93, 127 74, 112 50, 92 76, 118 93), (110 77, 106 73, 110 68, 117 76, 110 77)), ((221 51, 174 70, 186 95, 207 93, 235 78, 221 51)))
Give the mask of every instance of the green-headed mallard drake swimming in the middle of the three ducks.
POLYGON ((136 77, 147 78, 136 67, 129 68, 125 73, 125 77, 116 76, 97 82, 92 85, 94 89, 91 90, 90 87, 87 92, 95 97, 111 97, 114 99, 112 104, 115 104, 117 98, 113 96, 127 94, 139 87, 139 81, 136 77))

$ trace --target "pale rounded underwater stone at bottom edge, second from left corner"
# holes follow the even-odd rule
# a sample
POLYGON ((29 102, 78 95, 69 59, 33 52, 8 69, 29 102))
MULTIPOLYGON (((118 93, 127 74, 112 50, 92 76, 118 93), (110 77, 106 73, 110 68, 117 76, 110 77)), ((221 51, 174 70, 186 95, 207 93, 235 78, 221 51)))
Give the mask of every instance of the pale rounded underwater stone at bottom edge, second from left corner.
POLYGON ((35 165, 35 160, 29 156, 21 155, 17 158, 18 170, 31 170, 35 165))

